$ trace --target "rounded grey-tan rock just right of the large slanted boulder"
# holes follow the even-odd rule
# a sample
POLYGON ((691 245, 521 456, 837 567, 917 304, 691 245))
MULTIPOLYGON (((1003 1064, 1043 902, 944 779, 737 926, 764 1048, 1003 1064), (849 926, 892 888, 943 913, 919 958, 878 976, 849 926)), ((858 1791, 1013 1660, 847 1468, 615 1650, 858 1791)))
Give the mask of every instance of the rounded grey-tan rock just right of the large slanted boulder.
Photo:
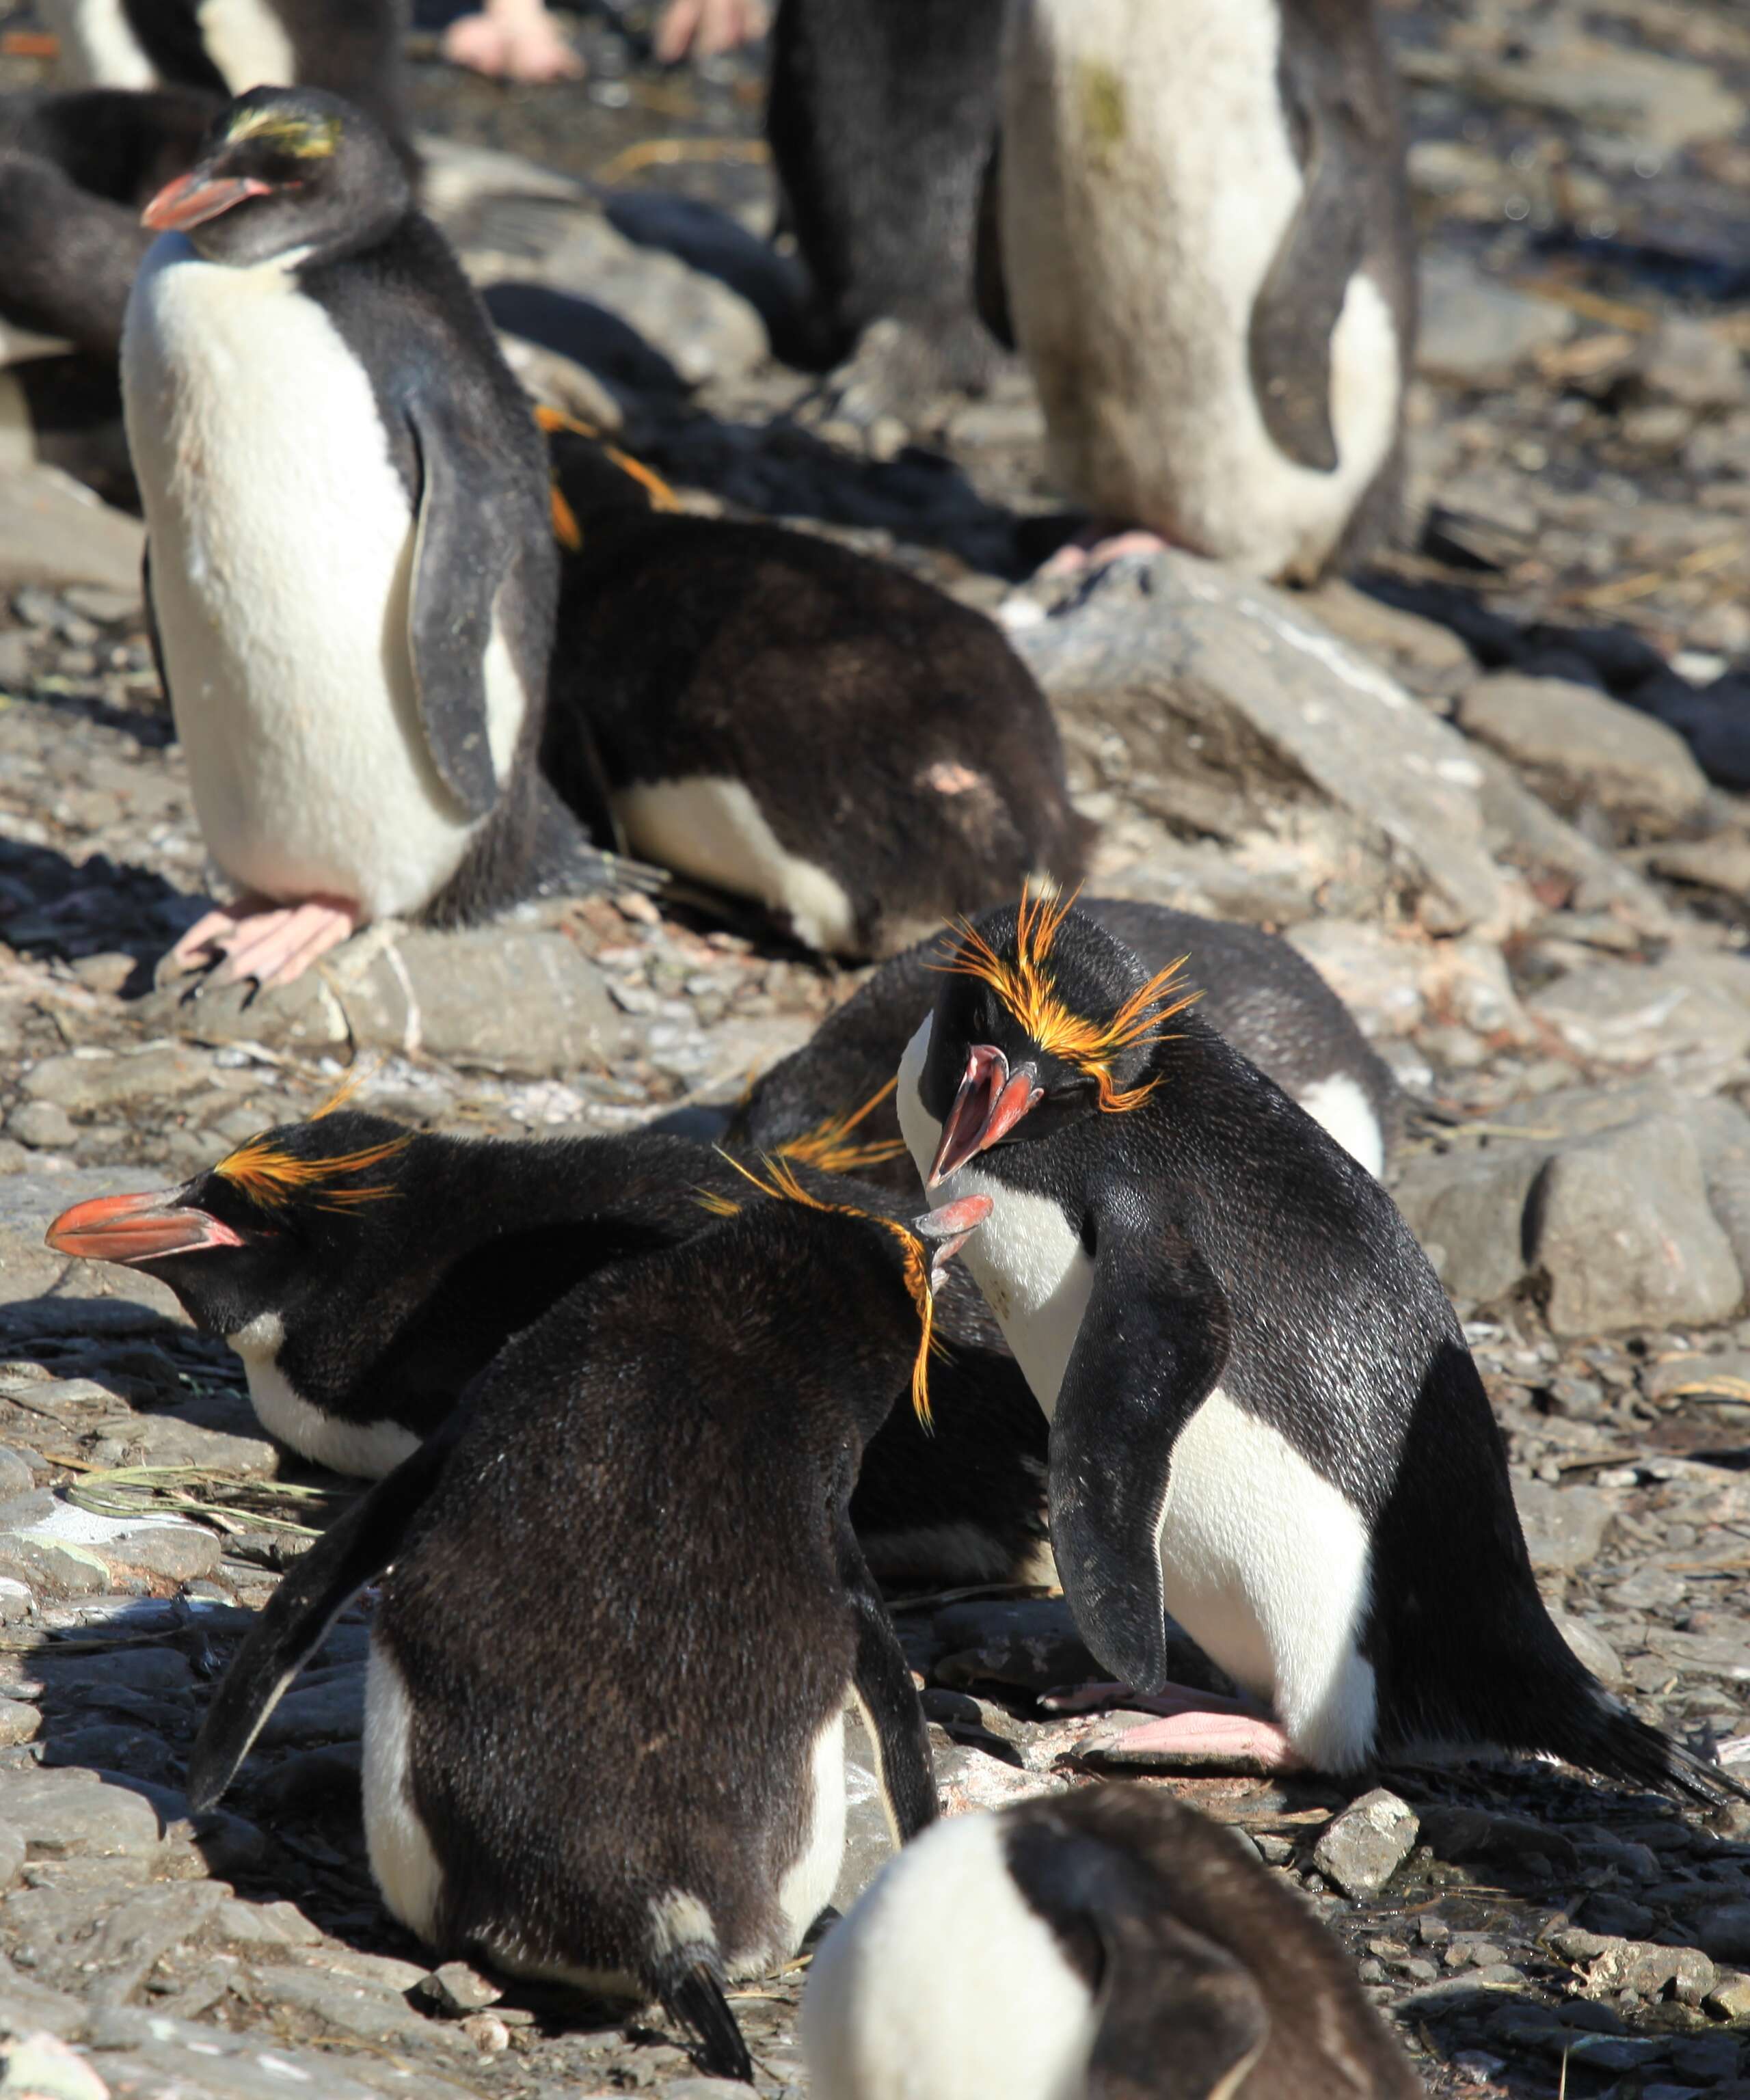
POLYGON ((1708 800, 1708 777, 1674 729, 1588 685, 1494 672, 1460 695, 1456 720, 1565 817, 1590 802, 1624 832, 1660 838, 1708 800))

